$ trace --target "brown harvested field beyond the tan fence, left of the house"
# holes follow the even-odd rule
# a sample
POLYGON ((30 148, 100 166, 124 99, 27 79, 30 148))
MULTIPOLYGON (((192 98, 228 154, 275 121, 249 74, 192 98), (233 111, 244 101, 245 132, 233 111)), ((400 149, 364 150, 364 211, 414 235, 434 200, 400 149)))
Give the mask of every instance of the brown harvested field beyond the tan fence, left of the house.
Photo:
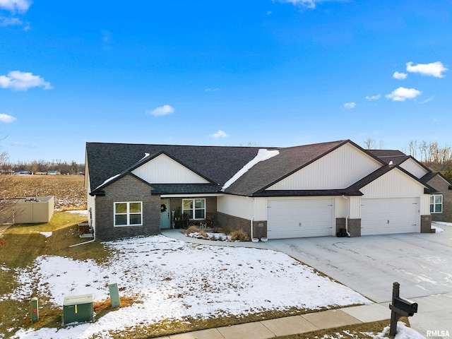
POLYGON ((79 175, 11 175, 8 184, 0 187, 0 197, 54 196, 56 210, 86 208, 84 179, 79 175))

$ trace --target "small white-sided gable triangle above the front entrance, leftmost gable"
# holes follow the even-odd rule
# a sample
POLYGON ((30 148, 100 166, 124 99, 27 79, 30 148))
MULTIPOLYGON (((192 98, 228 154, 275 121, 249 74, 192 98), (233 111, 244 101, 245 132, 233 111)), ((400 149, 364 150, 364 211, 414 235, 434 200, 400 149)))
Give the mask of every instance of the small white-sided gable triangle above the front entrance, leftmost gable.
POLYGON ((208 184, 208 181, 165 154, 133 169, 145 182, 157 184, 208 184))

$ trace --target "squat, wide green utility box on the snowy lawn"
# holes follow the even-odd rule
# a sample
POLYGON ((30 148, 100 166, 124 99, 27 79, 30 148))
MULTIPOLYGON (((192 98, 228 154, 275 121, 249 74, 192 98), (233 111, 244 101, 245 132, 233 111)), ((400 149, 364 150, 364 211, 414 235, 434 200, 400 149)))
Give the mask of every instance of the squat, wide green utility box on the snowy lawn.
POLYGON ((64 297, 63 323, 93 321, 93 295, 64 297))

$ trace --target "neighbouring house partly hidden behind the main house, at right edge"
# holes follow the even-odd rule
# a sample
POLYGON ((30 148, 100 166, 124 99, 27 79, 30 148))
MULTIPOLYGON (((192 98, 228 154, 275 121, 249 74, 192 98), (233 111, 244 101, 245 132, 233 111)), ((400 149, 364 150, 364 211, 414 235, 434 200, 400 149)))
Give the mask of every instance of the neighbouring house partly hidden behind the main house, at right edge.
POLYGON ((440 172, 432 172, 414 157, 400 150, 369 150, 386 163, 396 164, 412 173, 434 191, 430 194, 432 220, 452 222, 452 183, 440 172))

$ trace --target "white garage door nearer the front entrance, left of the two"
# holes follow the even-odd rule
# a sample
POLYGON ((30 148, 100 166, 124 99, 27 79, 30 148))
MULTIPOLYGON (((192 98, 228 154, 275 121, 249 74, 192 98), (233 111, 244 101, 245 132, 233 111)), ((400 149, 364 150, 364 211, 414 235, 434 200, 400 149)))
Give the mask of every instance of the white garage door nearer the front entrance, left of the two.
POLYGON ((268 239, 333 235, 333 220, 331 198, 267 201, 268 239))

